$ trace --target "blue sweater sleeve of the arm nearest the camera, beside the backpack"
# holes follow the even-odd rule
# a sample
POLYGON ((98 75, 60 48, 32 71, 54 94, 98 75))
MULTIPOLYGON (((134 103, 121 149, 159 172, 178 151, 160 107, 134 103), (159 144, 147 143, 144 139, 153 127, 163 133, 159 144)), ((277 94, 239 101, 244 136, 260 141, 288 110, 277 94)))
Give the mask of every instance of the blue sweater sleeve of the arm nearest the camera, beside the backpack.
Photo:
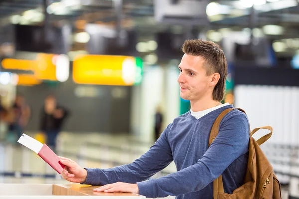
POLYGON ((149 198, 178 196, 200 191, 248 151, 249 123, 243 114, 228 114, 206 153, 192 166, 167 176, 139 182, 139 194, 149 198))

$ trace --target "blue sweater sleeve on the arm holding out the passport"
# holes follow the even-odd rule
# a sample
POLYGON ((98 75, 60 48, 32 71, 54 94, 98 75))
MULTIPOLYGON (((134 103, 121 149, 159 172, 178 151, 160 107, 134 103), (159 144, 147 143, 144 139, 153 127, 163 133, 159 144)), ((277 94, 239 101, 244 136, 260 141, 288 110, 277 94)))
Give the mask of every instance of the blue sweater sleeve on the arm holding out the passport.
POLYGON ((136 183, 149 179, 173 161, 166 135, 168 128, 169 126, 149 151, 131 164, 110 169, 85 168, 87 170, 87 179, 84 184, 106 185, 115 182, 136 183))

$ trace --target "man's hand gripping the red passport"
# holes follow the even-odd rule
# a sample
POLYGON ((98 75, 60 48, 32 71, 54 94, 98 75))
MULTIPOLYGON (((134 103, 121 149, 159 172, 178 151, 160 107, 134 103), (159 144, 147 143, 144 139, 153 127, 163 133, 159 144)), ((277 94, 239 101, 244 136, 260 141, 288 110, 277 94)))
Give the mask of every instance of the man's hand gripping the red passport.
POLYGON ((73 183, 84 183, 87 177, 87 171, 80 167, 71 159, 59 157, 61 164, 65 165, 61 176, 63 179, 73 183))

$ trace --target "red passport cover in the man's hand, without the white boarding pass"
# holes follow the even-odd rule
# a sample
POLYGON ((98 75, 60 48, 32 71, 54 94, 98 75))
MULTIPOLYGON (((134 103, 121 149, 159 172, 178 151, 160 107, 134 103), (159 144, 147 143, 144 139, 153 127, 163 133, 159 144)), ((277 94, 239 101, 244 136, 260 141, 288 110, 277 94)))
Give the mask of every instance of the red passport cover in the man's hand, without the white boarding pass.
POLYGON ((46 144, 44 144, 38 154, 44 161, 46 161, 53 169, 61 174, 64 165, 59 162, 59 157, 46 144))

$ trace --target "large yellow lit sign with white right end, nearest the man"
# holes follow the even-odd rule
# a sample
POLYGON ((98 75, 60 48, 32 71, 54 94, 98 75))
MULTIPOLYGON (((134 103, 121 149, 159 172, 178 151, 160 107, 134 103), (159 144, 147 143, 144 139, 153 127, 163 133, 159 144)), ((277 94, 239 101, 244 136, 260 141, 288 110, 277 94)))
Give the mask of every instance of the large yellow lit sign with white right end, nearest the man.
POLYGON ((130 56, 78 55, 73 80, 78 84, 133 85, 136 60, 130 56))

